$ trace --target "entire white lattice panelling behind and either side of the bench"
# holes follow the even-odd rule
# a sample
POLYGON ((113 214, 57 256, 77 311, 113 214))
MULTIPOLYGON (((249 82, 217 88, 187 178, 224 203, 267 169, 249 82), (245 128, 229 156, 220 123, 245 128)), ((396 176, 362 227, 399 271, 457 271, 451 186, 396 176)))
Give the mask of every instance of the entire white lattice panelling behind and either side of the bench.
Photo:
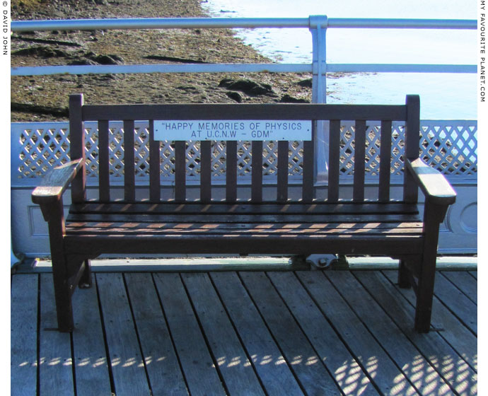
MULTIPOLYGON (((378 176, 380 126, 368 122, 366 144, 366 172, 378 176)), ((419 140, 420 156, 433 168, 446 175, 477 174, 477 122, 476 121, 422 121, 419 140)), ((147 122, 135 125, 136 180, 149 180, 149 132, 147 122)), ((393 123, 391 161, 392 175, 401 175, 405 147, 404 125, 393 123)), ((110 178, 123 180, 123 131, 122 122, 111 122, 109 132, 110 178)), ((66 122, 12 124, 11 140, 12 180, 21 182, 42 176, 53 166, 69 161, 69 134, 66 122), (18 125, 18 127, 16 126, 18 125)), ((343 122, 341 127, 341 175, 354 174, 354 122, 343 122)), ((173 142, 161 141, 161 178, 174 177, 175 151, 173 142)), ((211 146, 211 166, 214 177, 225 177, 226 142, 214 141, 211 146)), ((273 179, 277 170, 277 144, 263 144, 263 175, 273 179)), ((199 177, 199 142, 187 146, 187 175, 199 177)), ((97 124, 86 122, 87 177, 98 177, 98 131, 97 124)), ((299 141, 289 145, 289 175, 301 177, 303 168, 303 144, 299 141)), ((251 144, 238 142, 238 176, 251 174, 251 144)))

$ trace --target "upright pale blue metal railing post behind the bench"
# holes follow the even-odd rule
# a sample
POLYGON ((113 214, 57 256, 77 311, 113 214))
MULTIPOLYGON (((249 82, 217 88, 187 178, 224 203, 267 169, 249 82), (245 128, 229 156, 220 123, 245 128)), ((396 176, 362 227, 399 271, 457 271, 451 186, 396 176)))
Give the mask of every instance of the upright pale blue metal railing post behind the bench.
MULTIPOLYGON (((312 33, 312 103, 327 103, 327 61, 325 33, 327 32, 327 16, 317 15, 308 18, 312 33)), ((328 123, 318 121, 315 129, 315 175, 316 181, 327 181, 329 162, 328 123)))

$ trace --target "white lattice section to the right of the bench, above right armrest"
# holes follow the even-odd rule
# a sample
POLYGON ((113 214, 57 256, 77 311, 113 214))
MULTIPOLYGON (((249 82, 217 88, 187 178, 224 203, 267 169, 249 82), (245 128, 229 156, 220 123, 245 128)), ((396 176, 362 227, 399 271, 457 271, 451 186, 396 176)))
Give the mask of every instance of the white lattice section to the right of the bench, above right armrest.
POLYGON ((462 122, 429 122, 421 130, 422 159, 446 175, 477 173, 477 127, 462 122))

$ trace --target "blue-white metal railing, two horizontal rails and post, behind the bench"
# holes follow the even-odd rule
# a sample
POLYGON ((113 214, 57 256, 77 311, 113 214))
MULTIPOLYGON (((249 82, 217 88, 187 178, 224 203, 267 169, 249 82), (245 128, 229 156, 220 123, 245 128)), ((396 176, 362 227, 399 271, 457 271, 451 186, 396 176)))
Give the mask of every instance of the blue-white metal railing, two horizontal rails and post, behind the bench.
MULTIPOLYGON (((13 21, 13 32, 41 30, 109 30, 109 29, 197 29, 197 28, 308 28, 312 34, 311 64, 124 64, 81 66, 13 67, 11 76, 48 74, 138 74, 138 73, 218 73, 218 72, 291 72, 312 73, 312 102, 327 102, 327 73, 331 72, 407 72, 407 73, 476 73, 470 64, 327 64, 325 34, 329 28, 385 29, 462 29, 477 28, 475 20, 371 19, 371 18, 121 18, 52 21, 13 21)), ((327 180, 327 129, 317 124, 315 150, 316 177, 327 180), (318 144, 319 141, 325 144, 318 144)))

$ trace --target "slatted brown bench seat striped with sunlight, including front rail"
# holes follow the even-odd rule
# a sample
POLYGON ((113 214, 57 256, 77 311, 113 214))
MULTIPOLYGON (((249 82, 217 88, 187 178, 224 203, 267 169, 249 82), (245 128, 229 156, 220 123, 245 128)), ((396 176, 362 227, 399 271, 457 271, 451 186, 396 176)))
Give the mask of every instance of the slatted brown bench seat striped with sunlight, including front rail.
POLYGON ((422 218, 402 203, 139 202, 74 204, 66 219, 70 251, 211 253, 211 243, 229 254, 419 254, 422 218))

